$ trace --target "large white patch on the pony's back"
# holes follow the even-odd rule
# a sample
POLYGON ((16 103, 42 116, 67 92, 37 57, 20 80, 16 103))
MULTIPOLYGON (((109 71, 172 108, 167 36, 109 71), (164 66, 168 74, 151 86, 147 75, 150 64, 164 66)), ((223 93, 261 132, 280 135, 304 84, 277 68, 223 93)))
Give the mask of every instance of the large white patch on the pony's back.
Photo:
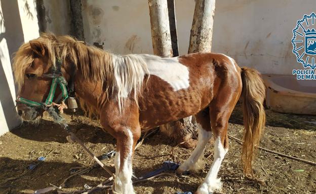
POLYGON ((166 81, 174 91, 190 86, 189 69, 179 62, 178 57, 161 58, 150 54, 141 54, 141 56, 147 64, 149 74, 166 81))

